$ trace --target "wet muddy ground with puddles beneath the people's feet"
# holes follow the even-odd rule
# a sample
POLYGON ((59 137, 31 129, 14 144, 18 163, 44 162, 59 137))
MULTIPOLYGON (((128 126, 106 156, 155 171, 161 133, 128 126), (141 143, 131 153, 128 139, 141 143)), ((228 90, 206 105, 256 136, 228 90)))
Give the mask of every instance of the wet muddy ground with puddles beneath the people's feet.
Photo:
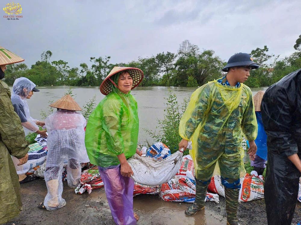
MULTIPOLYGON (((67 205, 56 211, 41 210, 37 207, 47 193, 45 181, 37 181, 21 185, 24 211, 14 221, 15 225, 115 225, 107 202, 104 188, 77 195, 64 182, 63 197, 67 205)), ((165 202, 158 195, 138 195, 134 197, 134 211, 140 220, 138 225, 218 225, 226 224, 225 199, 220 197, 219 204, 207 202, 205 212, 187 217, 185 209, 191 203, 165 202)), ((266 225, 264 200, 256 200, 239 204, 238 216, 241 225, 266 225)), ((301 204, 297 202, 293 224, 301 218, 301 204)))

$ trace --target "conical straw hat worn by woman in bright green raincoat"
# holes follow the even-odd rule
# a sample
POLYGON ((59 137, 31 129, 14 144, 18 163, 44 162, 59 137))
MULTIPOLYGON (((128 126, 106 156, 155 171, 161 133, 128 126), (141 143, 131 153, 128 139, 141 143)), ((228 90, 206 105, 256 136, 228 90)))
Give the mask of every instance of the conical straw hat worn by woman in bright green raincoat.
POLYGON ((112 91, 112 86, 111 86, 112 81, 111 81, 110 77, 113 76, 114 74, 119 73, 124 70, 129 72, 129 74, 131 74, 131 76, 132 76, 132 79, 133 79, 132 89, 134 89, 135 87, 137 87, 139 85, 139 83, 142 81, 143 76, 144 76, 142 70, 140 70, 138 68, 134 68, 134 67, 115 66, 99 87, 100 92, 103 95, 107 95, 112 91))

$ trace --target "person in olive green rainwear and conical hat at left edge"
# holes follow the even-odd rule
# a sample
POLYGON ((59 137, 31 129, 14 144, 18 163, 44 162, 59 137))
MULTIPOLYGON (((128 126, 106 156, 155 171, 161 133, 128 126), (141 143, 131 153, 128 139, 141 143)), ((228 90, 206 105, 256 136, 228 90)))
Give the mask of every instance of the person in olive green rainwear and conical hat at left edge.
POLYGON ((18 216, 21 208, 20 184, 11 155, 22 165, 29 151, 21 121, 11 104, 11 91, 1 79, 7 64, 24 59, 0 46, 0 224, 18 216))

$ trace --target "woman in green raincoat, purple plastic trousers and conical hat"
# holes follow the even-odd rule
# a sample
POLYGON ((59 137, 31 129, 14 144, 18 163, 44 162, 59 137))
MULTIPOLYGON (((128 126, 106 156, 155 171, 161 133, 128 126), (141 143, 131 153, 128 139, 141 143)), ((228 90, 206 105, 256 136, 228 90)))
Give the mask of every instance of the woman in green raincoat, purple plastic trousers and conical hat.
POLYGON ((114 221, 134 225, 133 171, 127 159, 137 150, 139 119, 131 89, 138 86, 143 72, 138 68, 114 67, 100 86, 106 97, 88 119, 85 145, 90 162, 98 165, 114 221))

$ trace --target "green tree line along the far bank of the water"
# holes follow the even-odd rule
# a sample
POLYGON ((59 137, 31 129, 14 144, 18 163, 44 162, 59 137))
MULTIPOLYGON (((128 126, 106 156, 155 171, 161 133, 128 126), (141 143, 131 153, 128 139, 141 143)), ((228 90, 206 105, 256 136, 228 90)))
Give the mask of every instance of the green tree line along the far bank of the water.
MULTIPOLYGON (((246 84, 250 87, 269 86, 288 73, 301 68, 301 35, 296 40, 293 54, 281 58, 269 54, 268 47, 257 47, 250 52, 260 68, 251 71, 246 84)), ((155 56, 141 58, 128 63, 110 63, 110 56, 90 57, 92 63, 70 67, 64 60, 51 61, 52 52, 42 52, 41 58, 30 68, 24 63, 11 64, 5 71, 5 82, 13 85, 18 77, 27 77, 36 85, 100 85, 114 66, 137 67, 144 72, 141 86, 197 87, 224 76, 221 68, 226 64, 211 49, 200 50, 190 41, 183 41, 178 52, 161 52, 155 56)))

